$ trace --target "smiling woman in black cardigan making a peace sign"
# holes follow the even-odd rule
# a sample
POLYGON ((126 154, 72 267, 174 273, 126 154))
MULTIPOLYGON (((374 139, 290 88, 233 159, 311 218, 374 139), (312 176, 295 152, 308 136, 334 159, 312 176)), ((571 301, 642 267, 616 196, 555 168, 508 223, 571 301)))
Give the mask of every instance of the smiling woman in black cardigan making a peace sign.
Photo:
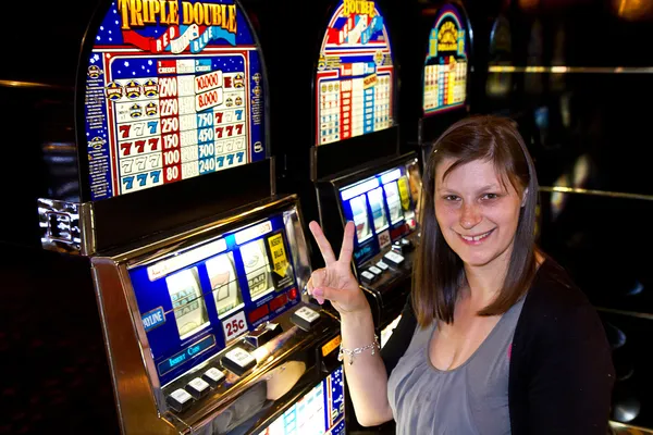
POLYGON ((350 272, 354 225, 309 291, 342 320, 358 421, 398 434, 605 434, 613 365, 596 312, 534 243, 538 182, 508 120, 452 125, 424 164, 411 298, 379 348, 350 272))

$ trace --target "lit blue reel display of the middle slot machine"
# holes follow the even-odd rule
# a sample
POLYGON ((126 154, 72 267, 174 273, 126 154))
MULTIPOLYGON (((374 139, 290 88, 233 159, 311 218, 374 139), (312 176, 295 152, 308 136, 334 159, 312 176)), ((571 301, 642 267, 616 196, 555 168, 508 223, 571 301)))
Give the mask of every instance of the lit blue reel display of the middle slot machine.
POLYGON ((420 188, 416 161, 340 188, 343 214, 356 225, 356 265, 417 227, 420 188))

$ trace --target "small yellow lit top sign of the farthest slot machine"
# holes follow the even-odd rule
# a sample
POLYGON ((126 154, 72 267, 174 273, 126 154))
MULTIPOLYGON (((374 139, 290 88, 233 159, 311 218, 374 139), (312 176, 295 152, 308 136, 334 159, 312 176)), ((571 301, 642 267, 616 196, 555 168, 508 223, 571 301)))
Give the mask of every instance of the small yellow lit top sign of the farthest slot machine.
POLYGON ((465 104, 469 65, 464 23, 451 4, 444 5, 435 18, 424 62, 424 115, 465 104))

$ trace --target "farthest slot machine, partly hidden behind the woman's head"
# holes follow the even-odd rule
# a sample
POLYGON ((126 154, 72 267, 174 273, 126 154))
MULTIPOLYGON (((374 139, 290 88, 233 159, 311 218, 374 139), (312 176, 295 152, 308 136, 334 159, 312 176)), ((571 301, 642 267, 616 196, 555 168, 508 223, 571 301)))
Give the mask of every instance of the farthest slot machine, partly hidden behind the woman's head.
POLYGON ((419 3, 402 13, 402 42, 409 50, 404 54, 402 142, 426 162, 440 134, 470 112, 473 34, 460 1, 419 3))

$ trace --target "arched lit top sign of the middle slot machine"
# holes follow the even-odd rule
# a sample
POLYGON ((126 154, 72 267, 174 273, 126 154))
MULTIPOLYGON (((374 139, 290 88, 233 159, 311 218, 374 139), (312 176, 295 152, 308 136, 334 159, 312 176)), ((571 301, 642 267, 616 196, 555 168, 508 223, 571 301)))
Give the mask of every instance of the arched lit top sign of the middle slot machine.
POLYGON ((316 78, 316 142, 325 145, 394 124, 394 64, 383 16, 373 1, 335 8, 316 78))

